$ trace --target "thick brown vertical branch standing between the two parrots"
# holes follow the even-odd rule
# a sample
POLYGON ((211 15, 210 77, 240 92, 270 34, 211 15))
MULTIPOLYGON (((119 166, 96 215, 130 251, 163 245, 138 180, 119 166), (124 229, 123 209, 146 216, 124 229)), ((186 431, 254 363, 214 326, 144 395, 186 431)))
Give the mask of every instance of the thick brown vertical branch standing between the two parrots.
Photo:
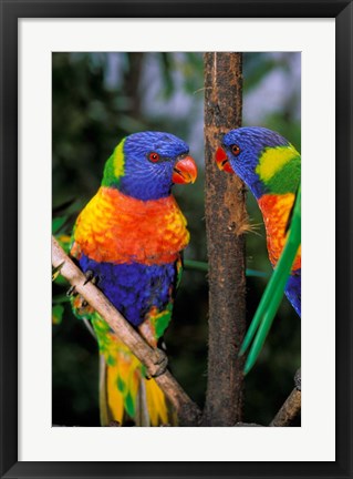
POLYGON ((209 261, 209 351, 205 426, 241 420, 246 329, 245 188, 219 172, 215 152, 222 134, 240 126, 241 53, 205 53, 206 228, 209 261))

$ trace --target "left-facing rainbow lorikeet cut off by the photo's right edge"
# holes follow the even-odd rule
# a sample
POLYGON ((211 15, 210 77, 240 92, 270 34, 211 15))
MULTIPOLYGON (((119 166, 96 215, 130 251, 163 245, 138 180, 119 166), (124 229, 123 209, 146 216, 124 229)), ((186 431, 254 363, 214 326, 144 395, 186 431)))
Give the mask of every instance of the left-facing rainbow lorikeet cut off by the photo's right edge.
MULTIPOLYGON (((236 173, 250 188, 262 212, 267 247, 277 265, 287 241, 288 224, 300 185, 301 157, 279 133, 259 126, 239 128, 224 135, 216 152, 220 170, 236 173)), ((301 251, 285 285, 285 295, 301 315, 301 251)))

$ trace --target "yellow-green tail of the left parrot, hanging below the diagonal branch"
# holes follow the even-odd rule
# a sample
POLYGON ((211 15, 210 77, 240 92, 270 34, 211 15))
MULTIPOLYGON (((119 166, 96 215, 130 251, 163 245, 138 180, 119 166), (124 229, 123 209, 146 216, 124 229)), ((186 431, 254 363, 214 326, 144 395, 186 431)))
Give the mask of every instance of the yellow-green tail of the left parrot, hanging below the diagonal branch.
POLYGON ((101 424, 108 426, 175 425, 173 409, 154 379, 146 379, 146 368, 107 324, 93 322, 101 350, 100 409, 101 424))

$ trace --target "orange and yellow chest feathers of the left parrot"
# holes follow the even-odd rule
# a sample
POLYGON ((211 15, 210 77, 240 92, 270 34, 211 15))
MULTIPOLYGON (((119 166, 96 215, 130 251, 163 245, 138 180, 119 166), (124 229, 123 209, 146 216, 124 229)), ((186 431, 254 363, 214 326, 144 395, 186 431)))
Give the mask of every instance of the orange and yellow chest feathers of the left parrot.
POLYGON ((174 197, 141 201, 101 187, 77 217, 71 254, 96 262, 164 264, 189 242, 174 197))

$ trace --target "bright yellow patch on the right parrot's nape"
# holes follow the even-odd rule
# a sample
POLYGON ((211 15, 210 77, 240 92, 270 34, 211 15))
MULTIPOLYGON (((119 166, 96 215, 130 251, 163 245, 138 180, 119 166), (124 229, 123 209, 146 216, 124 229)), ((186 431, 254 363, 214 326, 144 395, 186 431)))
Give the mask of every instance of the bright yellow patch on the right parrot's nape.
POLYGON ((267 182, 295 156, 299 156, 299 153, 292 144, 268 147, 259 159, 256 173, 258 173, 260 180, 267 182))

